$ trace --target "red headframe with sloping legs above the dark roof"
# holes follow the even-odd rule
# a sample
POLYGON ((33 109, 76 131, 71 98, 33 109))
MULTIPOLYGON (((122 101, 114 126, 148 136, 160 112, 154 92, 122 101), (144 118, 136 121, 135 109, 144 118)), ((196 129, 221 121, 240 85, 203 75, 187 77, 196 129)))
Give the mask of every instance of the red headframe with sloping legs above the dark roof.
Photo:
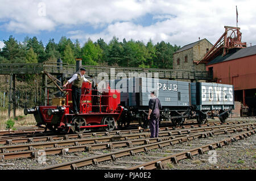
POLYGON ((213 47, 205 54, 205 56, 197 62, 208 63, 210 60, 222 53, 225 56, 230 49, 233 48, 246 48, 246 43, 241 42, 242 33, 238 27, 225 26, 225 32, 221 35, 220 39, 213 45, 213 47))

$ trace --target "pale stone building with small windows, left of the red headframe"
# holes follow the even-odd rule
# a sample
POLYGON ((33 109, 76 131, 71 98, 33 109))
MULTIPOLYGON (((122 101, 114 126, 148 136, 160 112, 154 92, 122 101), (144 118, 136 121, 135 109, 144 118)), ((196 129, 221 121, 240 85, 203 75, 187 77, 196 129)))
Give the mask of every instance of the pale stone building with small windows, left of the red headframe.
POLYGON ((196 65, 196 61, 203 58, 212 46, 207 39, 185 45, 173 54, 174 69, 205 70, 205 64, 196 65))

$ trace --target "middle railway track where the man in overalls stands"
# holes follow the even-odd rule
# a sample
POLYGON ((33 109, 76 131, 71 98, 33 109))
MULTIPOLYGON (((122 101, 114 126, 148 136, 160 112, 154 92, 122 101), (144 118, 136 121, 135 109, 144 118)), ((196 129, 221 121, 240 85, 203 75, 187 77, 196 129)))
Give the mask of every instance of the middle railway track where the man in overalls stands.
POLYGON ((124 135, 114 137, 103 137, 103 138, 87 138, 81 140, 70 140, 70 141, 59 141, 59 142, 43 142, 39 144, 28 144, 28 145, 14 145, 14 146, 1 146, 0 147, 0 160, 15 159, 15 158, 36 158, 38 156, 38 150, 45 149, 46 155, 50 154, 66 154, 76 151, 92 151, 97 149, 113 149, 123 146, 151 144, 158 142, 159 140, 169 140, 177 137, 184 137, 192 133, 205 132, 205 131, 220 131, 231 129, 243 129, 253 128, 255 124, 243 124, 236 126, 221 126, 212 128, 200 128, 190 129, 184 131, 173 131, 173 132, 162 132, 159 134, 159 138, 148 139, 150 136, 147 134, 135 134, 135 135, 124 135), (132 140, 138 139, 138 140, 132 140), (123 141, 124 140, 124 141, 123 141), (98 142, 106 142, 97 144, 98 142), (67 147, 68 146, 68 147, 67 147))

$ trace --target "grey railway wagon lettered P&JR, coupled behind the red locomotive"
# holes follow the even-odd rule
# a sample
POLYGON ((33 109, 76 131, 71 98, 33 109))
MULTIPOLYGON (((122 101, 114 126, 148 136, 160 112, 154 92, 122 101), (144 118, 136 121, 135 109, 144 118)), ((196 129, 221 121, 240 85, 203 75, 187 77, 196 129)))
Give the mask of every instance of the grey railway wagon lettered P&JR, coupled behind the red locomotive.
POLYGON ((133 77, 109 81, 112 89, 121 91, 121 106, 125 107, 119 126, 127 126, 131 120, 137 120, 142 127, 148 127, 148 101, 150 92, 155 91, 162 104, 160 120, 167 119, 174 125, 182 124, 191 115, 190 83, 133 77))

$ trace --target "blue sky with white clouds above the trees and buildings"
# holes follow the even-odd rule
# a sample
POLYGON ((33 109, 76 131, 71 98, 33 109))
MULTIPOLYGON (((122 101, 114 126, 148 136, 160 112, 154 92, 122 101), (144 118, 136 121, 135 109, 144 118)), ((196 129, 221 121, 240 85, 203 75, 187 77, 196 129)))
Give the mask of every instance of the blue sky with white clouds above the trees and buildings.
POLYGON ((241 27, 242 41, 256 44, 255 1, 164 1, 164 0, 0 0, 0 48, 13 35, 38 37, 44 45, 61 36, 79 39, 100 37, 107 43, 113 36, 122 41, 150 39, 183 45, 199 39, 214 44, 224 26, 241 27))

